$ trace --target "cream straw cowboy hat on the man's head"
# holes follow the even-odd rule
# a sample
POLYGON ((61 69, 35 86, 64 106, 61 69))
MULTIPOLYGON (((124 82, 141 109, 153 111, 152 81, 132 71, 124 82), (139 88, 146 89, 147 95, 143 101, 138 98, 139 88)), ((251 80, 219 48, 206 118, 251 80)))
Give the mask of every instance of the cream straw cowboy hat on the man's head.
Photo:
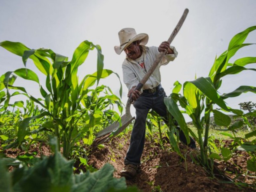
POLYGON ((148 43, 148 34, 140 33, 137 35, 134 28, 123 28, 118 32, 120 46, 115 46, 114 49, 118 55, 128 47, 132 42, 140 40, 141 45, 148 43))

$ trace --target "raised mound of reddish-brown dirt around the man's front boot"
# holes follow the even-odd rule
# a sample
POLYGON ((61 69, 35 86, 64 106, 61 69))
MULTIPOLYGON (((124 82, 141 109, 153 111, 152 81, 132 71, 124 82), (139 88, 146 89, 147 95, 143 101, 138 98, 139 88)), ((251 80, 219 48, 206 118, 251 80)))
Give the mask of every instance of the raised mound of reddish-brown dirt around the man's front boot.
MULTIPOLYGON (((128 134, 129 137, 129 134, 128 134)), ((124 156, 129 147, 129 139, 125 137, 113 138, 105 144, 105 148, 95 149, 89 157, 89 164, 99 169, 105 163, 112 164, 116 171, 114 177, 120 178, 119 172, 124 166, 124 156)), ((232 176, 212 178, 202 166, 193 163, 190 155, 196 156, 196 151, 180 145, 186 161, 173 150, 170 144, 165 143, 164 148, 145 142, 142 154, 140 173, 132 180, 126 180, 127 185, 137 186, 142 191, 255 191, 253 189, 242 189, 232 183, 227 183, 232 176)), ((245 157, 246 158, 246 157, 245 157)), ((230 164, 217 163, 222 169, 230 164)), ((235 166, 235 165, 233 165, 235 166)), ((218 167, 216 167, 218 168, 218 167)), ((231 167, 229 168, 232 169, 231 167)), ((234 173, 235 174, 235 173, 234 173)), ((235 177, 235 176, 234 176, 235 177)), ((251 180, 255 182, 255 180, 251 180)))

